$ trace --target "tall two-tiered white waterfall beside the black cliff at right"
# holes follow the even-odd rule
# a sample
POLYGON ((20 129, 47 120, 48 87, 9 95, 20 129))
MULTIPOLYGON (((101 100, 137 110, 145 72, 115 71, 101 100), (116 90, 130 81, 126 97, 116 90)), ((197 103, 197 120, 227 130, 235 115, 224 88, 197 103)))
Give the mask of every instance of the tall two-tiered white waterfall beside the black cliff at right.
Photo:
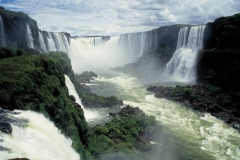
POLYGON ((196 83, 196 58, 203 47, 205 26, 193 26, 188 34, 188 27, 179 31, 177 49, 167 63, 166 74, 170 79, 187 83, 196 83))

